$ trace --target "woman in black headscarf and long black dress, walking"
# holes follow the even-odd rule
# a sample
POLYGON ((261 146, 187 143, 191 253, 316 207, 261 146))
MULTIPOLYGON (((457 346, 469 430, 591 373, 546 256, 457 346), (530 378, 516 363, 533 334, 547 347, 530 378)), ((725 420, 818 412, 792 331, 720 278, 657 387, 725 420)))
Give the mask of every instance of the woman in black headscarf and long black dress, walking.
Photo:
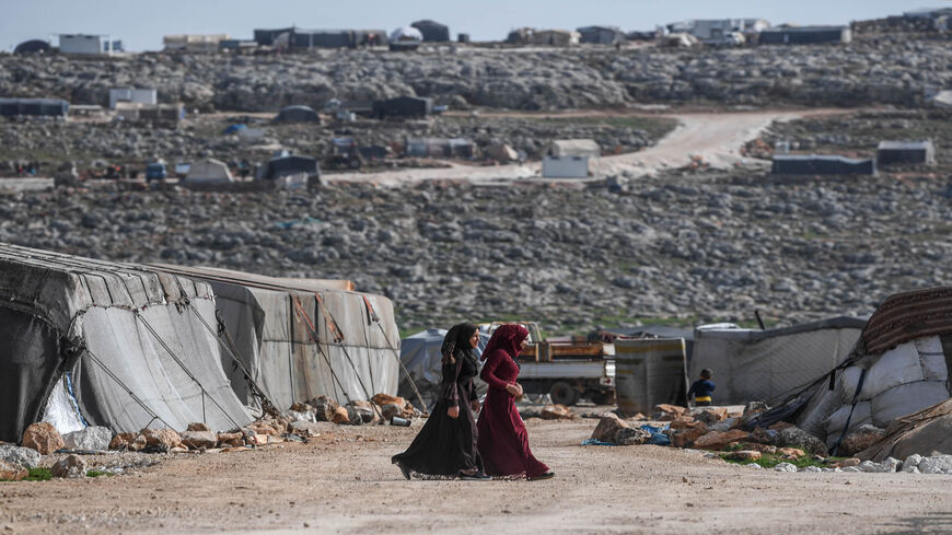
POLYGON ((473 377, 479 372, 473 352, 478 341, 476 326, 465 323, 454 325, 443 338, 440 398, 407 451, 392 458, 407 479, 413 472, 489 479, 476 451, 476 418, 473 416, 479 410, 473 386, 473 377))

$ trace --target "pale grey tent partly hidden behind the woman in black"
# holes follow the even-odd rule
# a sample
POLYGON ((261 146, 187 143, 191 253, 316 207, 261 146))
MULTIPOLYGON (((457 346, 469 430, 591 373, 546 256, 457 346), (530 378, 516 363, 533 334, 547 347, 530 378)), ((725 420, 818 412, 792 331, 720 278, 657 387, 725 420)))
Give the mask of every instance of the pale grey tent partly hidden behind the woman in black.
MULTIPOLYGON (((430 408, 440 395, 440 383, 443 381, 443 356, 440 353, 440 347, 444 336, 446 336, 444 329, 427 329, 400 341, 400 361, 430 408)), ((480 333, 479 345, 476 348, 477 356, 483 354, 483 348, 488 341, 489 335, 480 333)), ((485 392, 486 384, 478 377, 475 381, 477 391, 485 392)), ((413 387, 406 376, 400 379, 397 393, 407 399, 414 396, 413 387)))

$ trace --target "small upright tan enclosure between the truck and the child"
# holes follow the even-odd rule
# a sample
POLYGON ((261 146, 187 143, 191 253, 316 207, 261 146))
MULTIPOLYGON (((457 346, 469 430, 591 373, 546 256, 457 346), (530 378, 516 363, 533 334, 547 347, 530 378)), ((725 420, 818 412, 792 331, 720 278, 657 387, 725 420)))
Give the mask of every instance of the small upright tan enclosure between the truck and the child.
POLYGON ((684 338, 615 340, 618 409, 650 416, 655 405, 683 404, 686 369, 684 338))

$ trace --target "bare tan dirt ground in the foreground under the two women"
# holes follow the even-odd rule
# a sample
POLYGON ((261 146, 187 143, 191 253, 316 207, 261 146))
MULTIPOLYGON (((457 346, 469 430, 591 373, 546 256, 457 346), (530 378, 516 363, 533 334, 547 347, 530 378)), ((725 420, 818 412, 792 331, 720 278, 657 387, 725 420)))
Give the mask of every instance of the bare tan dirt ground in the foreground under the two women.
POLYGON ((0 484, 0 533, 949 533, 952 478, 781 474, 659 446, 580 446, 596 421, 530 419, 546 481, 403 479, 415 429, 181 454, 131 475, 0 484), (306 526, 305 526, 306 524, 306 526))

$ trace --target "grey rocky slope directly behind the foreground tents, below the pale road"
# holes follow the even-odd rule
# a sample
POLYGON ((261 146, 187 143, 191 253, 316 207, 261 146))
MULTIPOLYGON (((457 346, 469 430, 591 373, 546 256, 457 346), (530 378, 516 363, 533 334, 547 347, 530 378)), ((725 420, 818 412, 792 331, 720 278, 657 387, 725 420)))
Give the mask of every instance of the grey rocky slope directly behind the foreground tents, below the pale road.
POLYGON ((944 182, 669 174, 626 189, 13 195, 0 198, 0 241, 349 278, 391 296, 404 329, 524 317, 572 332, 755 309, 787 324, 950 282, 944 182))

